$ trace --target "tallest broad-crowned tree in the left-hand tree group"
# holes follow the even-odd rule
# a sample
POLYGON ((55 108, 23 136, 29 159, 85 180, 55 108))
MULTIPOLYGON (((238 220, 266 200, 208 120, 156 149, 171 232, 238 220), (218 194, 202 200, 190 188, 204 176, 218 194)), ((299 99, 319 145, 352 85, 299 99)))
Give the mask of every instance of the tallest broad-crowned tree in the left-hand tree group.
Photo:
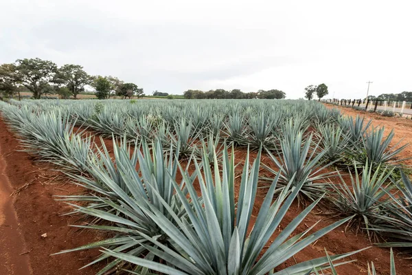
POLYGON ((33 93, 35 99, 49 93, 47 85, 55 80, 57 65, 52 61, 40 58, 18 59, 16 72, 21 77, 21 83, 33 93))

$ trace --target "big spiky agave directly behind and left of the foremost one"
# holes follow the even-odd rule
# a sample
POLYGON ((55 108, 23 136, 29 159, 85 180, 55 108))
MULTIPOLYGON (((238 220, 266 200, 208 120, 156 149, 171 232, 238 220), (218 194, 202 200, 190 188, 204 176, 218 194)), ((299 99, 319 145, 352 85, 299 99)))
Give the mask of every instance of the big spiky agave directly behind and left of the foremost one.
MULTIPOLYGON (((186 219, 181 201, 176 199, 174 193, 176 188, 179 188, 180 192, 186 194, 185 186, 192 184, 193 177, 185 177, 180 184, 176 183, 177 159, 172 149, 163 156, 163 148, 159 141, 152 144, 152 148, 146 142, 142 142, 133 149, 125 138, 119 143, 113 140, 113 145, 113 160, 103 144, 98 154, 90 159, 87 175, 71 175, 76 179, 76 184, 90 190, 89 194, 59 197, 60 200, 78 202, 69 203, 75 209, 69 214, 82 213, 95 218, 90 225, 73 226, 109 232, 113 236, 60 253, 109 248, 115 252, 127 252, 131 256, 152 261, 155 255, 146 248, 148 241, 144 236, 153 237, 164 242, 166 246, 171 244, 164 240, 161 228, 140 205, 142 201, 150 203, 150 206, 156 209, 153 211, 162 213, 165 219, 186 219)), ((184 173, 185 170, 181 167, 180 169, 181 173, 184 173)), ((106 259, 108 255, 102 254, 86 266, 106 259)), ((104 274, 123 265, 124 261, 114 259, 98 274, 104 274)), ((133 267, 133 272, 144 270, 139 266, 133 267)))

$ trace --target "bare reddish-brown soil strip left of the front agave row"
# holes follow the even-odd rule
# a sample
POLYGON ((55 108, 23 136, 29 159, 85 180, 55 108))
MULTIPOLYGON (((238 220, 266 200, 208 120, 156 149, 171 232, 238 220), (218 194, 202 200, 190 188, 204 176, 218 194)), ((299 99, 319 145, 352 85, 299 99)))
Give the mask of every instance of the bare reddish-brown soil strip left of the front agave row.
MULTIPOLYGON (((9 131, 1 116, 0 147, 3 161, 5 161, 0 162, 0 173, 3 175, 0 177, 0 184, 4 186, 3 181, 7 177, 10 181, 8 189, 3 191, 6 199, 10 200, 10 203, 6 203, 8 210, 5 213, 16 213, 19 225, 12 224, 12 228, 21 230, 26 244, 25 248, 17 247, 18 235, 4 237, 9 236, 9 233, 3 233, 3 230, 10 230, 10 228, 0 226, 0 275, 30 274, 27 270, 21 270, 20 273, 17 273, 17 270, 15 273, 10 272, 9 270, 18 268, 14 265, 21 265, 21 263, 12 262, 14 258, 9 257, 8 254, 3 255, 3 251, 9 252, 10 255, 23 257, 22 259, 30 263, 34 275, 96 274, 102 266, 79 270, 80 267, 95 259, 96 251, 51 256, 61 250, 77 248, 96 241, 100 237, 89 231, 80 232, 76 228, 71 228, 70 224, 81 223, 78 221, 79 217, 62 216, 71 208, 62 201, 56 201, 53 197, 54 195, 79 194, 82 190, 78 186, 61 181, 60 177, 56 177, 59 172, 53 167, 42 162, 34 162, 32 156, 20 151, 22 147, 19 141, 9 131), (13 190, 21 191, 10 197, 13 190), (11 199, 14 200, 14 204, 11 203, 11 199), (47 236, 42 237, 43 234, 47 236), (20 256, 22 252, 28 253, 20 256), (2 268, 5 268, 5 271, 2 268)), ((3 202, 3 197, 0 197, 0 201, 3 202)))

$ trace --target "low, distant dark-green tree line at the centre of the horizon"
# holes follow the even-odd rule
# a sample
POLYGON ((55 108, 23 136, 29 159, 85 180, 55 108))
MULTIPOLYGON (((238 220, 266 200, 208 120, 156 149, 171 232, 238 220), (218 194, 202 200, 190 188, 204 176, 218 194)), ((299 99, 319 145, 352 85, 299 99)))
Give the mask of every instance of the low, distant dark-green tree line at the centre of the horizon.
POLYGON ((187 99, 282 99, 286 98, 286 93, 277 89, 268 91, 258 90, 257 92, 244 93, 240 89, 226 91, 225 89, 216 89, 210 91, 187 90, 183 92, 183 96, 187 99))

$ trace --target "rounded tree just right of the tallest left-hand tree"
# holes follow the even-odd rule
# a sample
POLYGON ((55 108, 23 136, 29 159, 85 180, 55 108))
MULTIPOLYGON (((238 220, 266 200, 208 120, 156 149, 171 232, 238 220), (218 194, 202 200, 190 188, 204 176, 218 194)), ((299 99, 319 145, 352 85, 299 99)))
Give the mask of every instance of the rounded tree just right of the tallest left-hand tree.
POLYGON ((56 83, 65 85, 70 94, 77 98, 77 95, 84 91, 84 85, 91 83, 91 78, 87 72, 84 72, 82 66, 67 64, 58 69, 56 83))

